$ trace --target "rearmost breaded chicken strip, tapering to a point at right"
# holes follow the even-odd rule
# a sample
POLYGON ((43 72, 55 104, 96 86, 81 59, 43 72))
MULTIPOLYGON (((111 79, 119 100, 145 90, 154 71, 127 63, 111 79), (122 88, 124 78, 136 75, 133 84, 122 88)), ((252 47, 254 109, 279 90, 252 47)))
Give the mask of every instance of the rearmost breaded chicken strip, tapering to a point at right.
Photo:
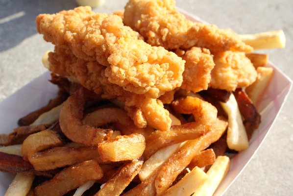
POLYGON ((200 47, 211 52, 251 51, 231 30, 216 25, 194 23, 179 13, 174 0, 129 0, 123 22, 137 30, 152 46, 166 49, 200 47))

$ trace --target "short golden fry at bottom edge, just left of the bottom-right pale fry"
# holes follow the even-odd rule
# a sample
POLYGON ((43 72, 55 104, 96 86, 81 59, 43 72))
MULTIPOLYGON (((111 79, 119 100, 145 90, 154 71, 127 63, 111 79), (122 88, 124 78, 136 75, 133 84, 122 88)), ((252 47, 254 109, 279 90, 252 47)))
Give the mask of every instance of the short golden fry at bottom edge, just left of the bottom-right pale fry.
POLYGON ((200 168, 195 167, 187 173, 179 182, 171 186, 164 196, 190 196, 196 189, 201 187, 207 180, 208 175, 200 168))

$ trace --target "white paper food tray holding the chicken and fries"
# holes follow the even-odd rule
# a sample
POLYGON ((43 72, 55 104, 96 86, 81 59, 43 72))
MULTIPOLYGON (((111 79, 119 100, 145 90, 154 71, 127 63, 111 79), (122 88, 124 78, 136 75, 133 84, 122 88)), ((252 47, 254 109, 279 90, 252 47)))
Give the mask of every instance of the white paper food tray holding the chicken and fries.
MULTIPOLYGON (((189 20, 204 22, 181 9, 179 10, 189 20)), ((244 170, 268 134, 291 90, 292 81, 272 63, 269 63, 269 67, 274 69, 274 75, 262 100, 257 105, 262 116, 262 122, 253 134, 249 142, 249 148, 232 157, 230 171, 221 182, 214 196, 223 195, 225 190, 244 170)), ((46 72, 0 103, 0 133, 10 133, 13 128, 18 126, 17 121, 19 118, 46 105, 50 98, 56 96, 58 89, 48 81, 49 79, 50 73, 46 72)), ((5 194, 13 177, 13 174, 0 172, 0 195, 5 194)))

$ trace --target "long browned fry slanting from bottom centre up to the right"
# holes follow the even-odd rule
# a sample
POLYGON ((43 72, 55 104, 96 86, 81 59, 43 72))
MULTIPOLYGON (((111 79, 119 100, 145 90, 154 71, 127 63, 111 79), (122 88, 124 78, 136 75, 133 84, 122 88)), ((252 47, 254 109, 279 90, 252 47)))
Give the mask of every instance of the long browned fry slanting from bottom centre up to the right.
POLYGON ((200 151, 219 140, 227 127, 227 122, 217 119, 210 127, 209 132, 198 139, 188 141, 175 152, 159 169, 155 178, 157 195, 163 194, 200 151))

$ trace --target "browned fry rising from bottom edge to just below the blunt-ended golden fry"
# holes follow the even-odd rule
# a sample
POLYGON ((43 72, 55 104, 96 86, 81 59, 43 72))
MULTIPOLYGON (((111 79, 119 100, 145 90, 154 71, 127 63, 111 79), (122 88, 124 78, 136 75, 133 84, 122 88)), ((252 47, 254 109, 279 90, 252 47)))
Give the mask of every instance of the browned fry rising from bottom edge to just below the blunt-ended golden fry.
POLYGON ((120 196, 137 175, 143 165, 142 160, 133 160, 121 167, 118 173, 107 181, 95 196, 120 196))

